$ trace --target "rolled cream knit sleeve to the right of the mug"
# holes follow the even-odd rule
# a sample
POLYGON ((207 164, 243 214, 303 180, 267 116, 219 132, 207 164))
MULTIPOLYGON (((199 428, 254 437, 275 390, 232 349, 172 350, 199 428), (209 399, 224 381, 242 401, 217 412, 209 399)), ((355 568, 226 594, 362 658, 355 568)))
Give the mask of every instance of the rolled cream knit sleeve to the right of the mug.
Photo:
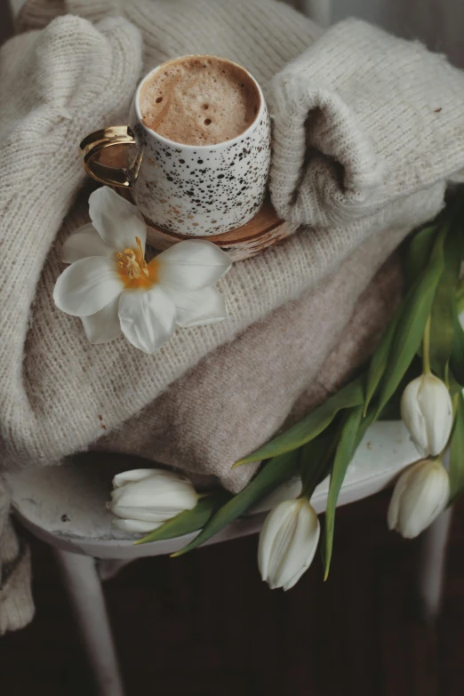
POLYGON ((272 200, 286 220, 365 229, 413 222, 464 168, 464 73, 360 20, 330 28, 276 75, 272 200), (408 220, 409 217, 409 220, 408 220))

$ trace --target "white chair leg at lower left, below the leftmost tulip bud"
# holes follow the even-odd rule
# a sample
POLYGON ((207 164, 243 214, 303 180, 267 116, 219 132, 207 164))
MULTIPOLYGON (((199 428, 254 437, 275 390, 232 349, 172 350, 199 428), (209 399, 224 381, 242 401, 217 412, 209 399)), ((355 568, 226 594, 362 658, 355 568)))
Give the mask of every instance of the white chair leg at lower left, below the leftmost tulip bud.
POLYGON ((95 559, 53 548, 68 590, 99 696, 124 696, 95 559))

